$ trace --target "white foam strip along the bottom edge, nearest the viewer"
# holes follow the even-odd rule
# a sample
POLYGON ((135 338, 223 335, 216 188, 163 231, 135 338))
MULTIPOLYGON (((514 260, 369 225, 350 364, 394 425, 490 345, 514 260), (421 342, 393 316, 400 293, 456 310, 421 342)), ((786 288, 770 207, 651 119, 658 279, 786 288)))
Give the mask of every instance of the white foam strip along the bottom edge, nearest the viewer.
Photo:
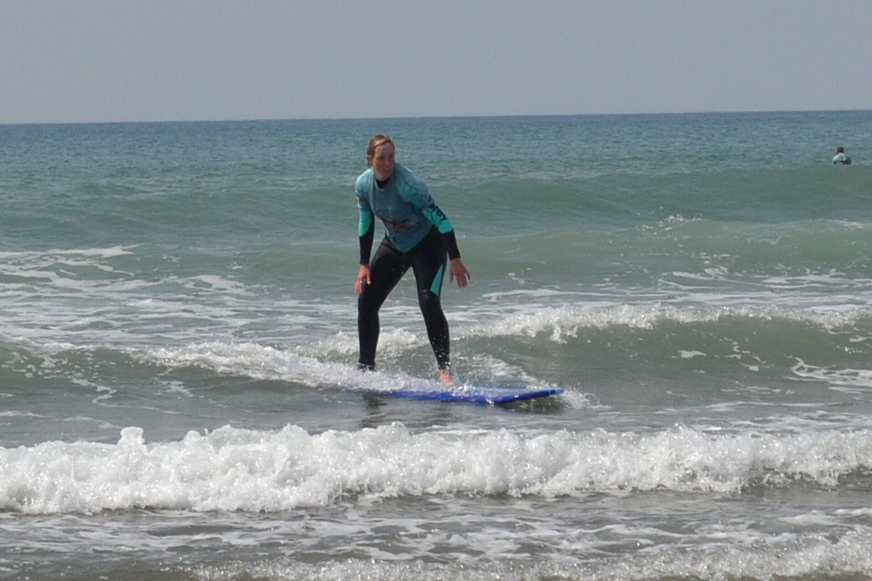
MULTIPOLYGON (((482 547, 490 543, 484 543, 482 547)), ((464 579, 467 581, 527 581, 529 579, 597 579, 599 581, 649 581, 651 579, 825 579, 866 578, 872 573, 872 534, 848 532, 832 538, 814 534, 760 536, 753 542, 733 541, 683 547, 640 547, 629 555, 595 558, 523 560, 512 555, 495 560, 464 559, 440 563, 431 559, 345 559, 307 564, 291 557, 220 566, 198 566, 203 579, 238 578, 464 579), (646 550, 647 549, 647 550, 646 550)))

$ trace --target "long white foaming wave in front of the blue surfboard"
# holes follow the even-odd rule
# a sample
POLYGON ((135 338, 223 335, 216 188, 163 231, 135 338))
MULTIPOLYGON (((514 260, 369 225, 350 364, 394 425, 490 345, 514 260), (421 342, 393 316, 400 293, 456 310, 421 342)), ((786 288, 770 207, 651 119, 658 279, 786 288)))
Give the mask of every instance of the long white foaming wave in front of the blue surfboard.
POLYGON ((401 424, 310 434, 224 427, 146 444, 45 442, 0 448, 0 509, 26 514, 136 508, 284 511, 348 498, 562 497, 590 492, 740 494, 867 478, 872 432, 412 433, 401 424))

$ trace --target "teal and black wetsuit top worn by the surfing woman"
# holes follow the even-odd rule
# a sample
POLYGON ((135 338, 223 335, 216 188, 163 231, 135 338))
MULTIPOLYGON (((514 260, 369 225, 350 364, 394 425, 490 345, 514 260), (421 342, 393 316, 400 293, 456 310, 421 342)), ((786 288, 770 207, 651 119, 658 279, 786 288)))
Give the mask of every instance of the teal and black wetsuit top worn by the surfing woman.
POLYGON ((391 178, 383 184, 368 169, 357 178, 354 192, 361 214, 361 264, 369 263, 376 216, 398 251, 411 251, 435 226, 445 238, 449 257, 460 258, 453 224, 433 202, 427 185, 401 164, 394 166, 391 178))

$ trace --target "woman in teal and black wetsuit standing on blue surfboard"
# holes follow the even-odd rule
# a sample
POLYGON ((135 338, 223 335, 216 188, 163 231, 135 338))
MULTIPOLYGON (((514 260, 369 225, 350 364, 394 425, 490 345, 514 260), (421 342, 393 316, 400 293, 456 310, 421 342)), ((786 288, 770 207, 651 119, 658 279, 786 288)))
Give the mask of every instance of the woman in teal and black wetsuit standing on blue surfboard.
POLYGON ((396 162, 396 147, 390 137, 372 137, 366 148, 366 161, 369 169, 354 184, 360 209, 361 244, 361 270, 354 285, 358 293, 357 329, 361 347, 358 368, 375 369, 381 304, 411 267, 440 379, 451 385, 448 321, 440 300, 446 255, 451 259, 451 281, 457 281, 463 288, 470 280, 470 271, 457 248, 454 227, 433 202, 424 182, 396 162), (384 224, 385 236, 370 260, 376 216, 384 224))

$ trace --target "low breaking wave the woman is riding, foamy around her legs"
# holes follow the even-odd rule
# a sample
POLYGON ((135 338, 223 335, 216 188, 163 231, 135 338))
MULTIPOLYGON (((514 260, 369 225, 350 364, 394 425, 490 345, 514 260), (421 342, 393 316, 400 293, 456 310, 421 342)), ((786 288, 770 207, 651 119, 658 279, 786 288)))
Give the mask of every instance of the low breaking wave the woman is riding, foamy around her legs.
MULTIPOLYGON (((531 387, 566 387, 550 384, 565 382, 566 373, 584 368, 584 361, 588 367, 601 362, 605 368, 629 366, 639 372, 650 371, 651 365, 669 365, 681 373, 687 372, 688 364, 714 372, 720 365, 735 363, 751 370, 769 366, 777 377, 807 379, 797 367, 791 369, 791 361, 862 368, 872 336, 872 310, 860 305, 824 309, 819 305, 682 306, 659 301, 577 304, 573 301, 579 295, 556 291, 502 294, 490 305, 451 314, 452 351, 461 379, 481 383, 511 377, 531 387), (541 304, 561 301, 568 304, 541 304), (560 369, 566 371, 556 371, 556 376, 547 373, 550 379, 545 379, 545 369, 561 360, 560 369), (569 360, 578 363, 569 365, 569 360)), ((399 308, 387 309, 384 319, 417 321, 413 309, 402 313, 396 312, 399 308)), ((353 361, 358 341, 352 321, 348 324, 348 330, 309 341, 292 337, 272 344, 196 341, 131 350, 129 355, 169 368, 199 367, 310 387, 411 389, 421 380, 416 374, 431 376, 429 343, 424 331, 414 327, 382 330, 380 369, 388 373, 357 374, 353 361)), ((834 387, 841 381, 817 377, 835 379, 834 387)))

